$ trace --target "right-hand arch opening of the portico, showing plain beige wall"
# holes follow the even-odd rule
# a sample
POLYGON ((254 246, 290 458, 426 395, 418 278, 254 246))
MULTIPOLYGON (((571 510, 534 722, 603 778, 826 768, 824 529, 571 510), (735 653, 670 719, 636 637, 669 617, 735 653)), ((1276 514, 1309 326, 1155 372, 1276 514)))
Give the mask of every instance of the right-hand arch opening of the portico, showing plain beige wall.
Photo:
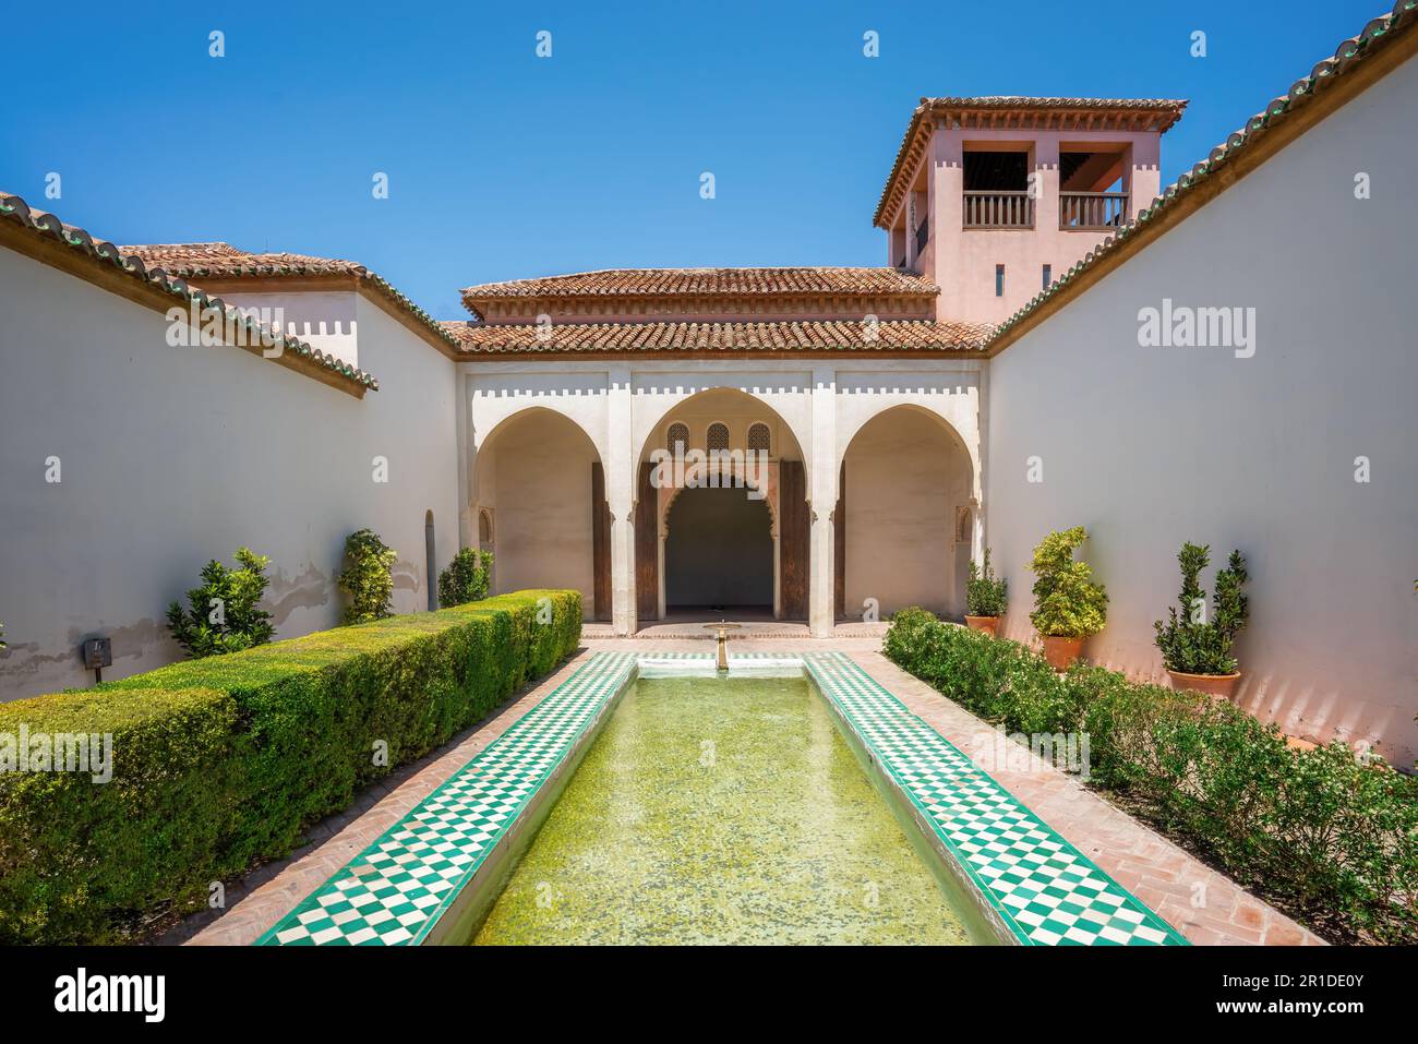
POLYGON ((852 435, 839 504, 844 617, 906 606, 964 614, 971 474, 954 428, 913 406, 878 413, 852 435))

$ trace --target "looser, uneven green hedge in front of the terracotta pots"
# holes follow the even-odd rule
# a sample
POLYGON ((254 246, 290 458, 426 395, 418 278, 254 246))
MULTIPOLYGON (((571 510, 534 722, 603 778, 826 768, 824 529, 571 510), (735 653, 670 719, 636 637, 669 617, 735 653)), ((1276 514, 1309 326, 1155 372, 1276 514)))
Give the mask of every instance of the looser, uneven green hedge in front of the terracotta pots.
POLYGON ((1418 942, 1418 779, 1341 742, 1295 750, 1195 692, 939 621, 892 620, 886 655, 1008 732, 1088 733, 1089 784, 1333 940, 1418 942))

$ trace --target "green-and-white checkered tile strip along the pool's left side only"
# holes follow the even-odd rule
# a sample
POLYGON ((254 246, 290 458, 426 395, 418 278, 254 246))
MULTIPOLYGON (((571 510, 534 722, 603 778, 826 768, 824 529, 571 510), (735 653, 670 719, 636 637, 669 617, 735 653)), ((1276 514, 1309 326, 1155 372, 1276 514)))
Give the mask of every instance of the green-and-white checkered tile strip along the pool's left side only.
POLYGON ((631 652, 593 655, 257 945, 420 942, 634 667, 631 652))

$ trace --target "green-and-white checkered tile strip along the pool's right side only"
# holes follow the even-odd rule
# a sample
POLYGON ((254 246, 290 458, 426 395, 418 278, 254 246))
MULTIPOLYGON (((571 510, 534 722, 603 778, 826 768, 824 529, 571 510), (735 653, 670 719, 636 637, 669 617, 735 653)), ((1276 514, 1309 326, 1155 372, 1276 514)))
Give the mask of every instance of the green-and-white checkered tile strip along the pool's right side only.
POLYGON ((1020 942, 1187 945, 848 657, 808 652, 803 660, 1020 942))

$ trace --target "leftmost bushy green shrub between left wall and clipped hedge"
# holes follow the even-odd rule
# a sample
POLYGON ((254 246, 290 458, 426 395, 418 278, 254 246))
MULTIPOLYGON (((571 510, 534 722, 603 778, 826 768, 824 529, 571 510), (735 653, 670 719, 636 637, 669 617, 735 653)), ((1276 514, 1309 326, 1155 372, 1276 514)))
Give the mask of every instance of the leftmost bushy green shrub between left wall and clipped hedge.
POLYGON ((237 548, 240 569, 227 569, 213 559, 201 570, 201 587, 187 592, 187 609, 174 601, 167 607, 167 630, 193 658, 240 652, 271 641, 271 614, 258 609, 271 583, 265 567, 271 559, 250 548, 237 548))

